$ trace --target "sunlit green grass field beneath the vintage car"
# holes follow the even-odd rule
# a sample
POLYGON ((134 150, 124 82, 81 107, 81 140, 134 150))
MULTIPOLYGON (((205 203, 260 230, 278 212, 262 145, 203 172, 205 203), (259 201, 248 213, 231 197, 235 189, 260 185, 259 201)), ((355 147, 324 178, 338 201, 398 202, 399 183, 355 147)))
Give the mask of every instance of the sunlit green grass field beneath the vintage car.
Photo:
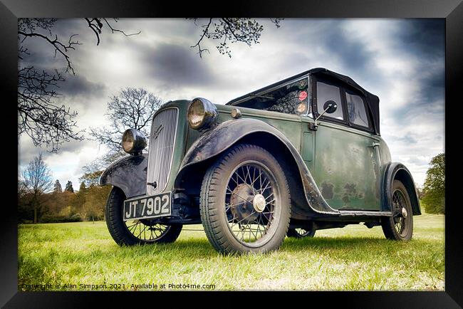
POLYGON ((20 225, 19 290, 444 290, 444 216, 414 219, 408 243, 354 225, 251 256, 219 255, 204 231, 121 248, 103 221, 20 225))

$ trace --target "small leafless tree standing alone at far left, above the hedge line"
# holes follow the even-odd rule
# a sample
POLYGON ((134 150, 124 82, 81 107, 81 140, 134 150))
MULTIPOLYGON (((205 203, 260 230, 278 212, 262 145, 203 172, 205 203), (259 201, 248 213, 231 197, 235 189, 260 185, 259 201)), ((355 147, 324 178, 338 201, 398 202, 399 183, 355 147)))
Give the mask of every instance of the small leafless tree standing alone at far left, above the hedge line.
POLYGON ((33 223, 37 223, 38 212, 41 211, 41 196, 53 187, 51 170, 42 159, 42 154, 28 164, 23 171, 23 184, 31 194, 30 206, 33 207, 33 223))

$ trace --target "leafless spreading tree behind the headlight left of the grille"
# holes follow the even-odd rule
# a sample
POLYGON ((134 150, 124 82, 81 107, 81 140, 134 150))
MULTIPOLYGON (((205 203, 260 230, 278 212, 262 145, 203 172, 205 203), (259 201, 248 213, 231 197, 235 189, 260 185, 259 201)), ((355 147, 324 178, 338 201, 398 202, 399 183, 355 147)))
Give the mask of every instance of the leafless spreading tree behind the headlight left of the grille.
POLYGON ((122 149, 122 135, 127 129, 139 130, 149 137, 152 116, 162 105, 162 100, 142 88, 125 88, 113 95, 106 114, 110 125, 92 127, 90 135, 101 145, 110 148, 111 153, 122 149))

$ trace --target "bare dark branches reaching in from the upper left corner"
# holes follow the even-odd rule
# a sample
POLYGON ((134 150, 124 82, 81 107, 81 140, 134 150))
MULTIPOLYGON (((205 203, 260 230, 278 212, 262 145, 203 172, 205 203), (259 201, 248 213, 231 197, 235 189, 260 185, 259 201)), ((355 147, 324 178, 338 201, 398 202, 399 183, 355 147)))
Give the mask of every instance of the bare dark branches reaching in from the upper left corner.
MULTIPOLYGON (((18 40, 19 60, 31 55, 26 48, 26 41, 38 39, 46 42, 53 51, 54 56, 63 58, 66 63, 64 73, 75 74, 70 51, 76 49, 80 42, 76 40, 77 34, 69 38, 58 38, 53 33, 58 19, 19 19, 18 40)), ((118 19, 86 18, 88 27, 95 33, 97 45, 100 43, 100 35, 107 28, 111 33, 119 32, 125 36, 124 31, 114 28, 113 23, 118 19)), ((24 133, 28 135, 36 146, 46 145, 49 151, 56 152, 59 145, 69 140, 82 140, 82 131, 74 132, 76 127, 76 111, 71 112, 64 105, 57 105, 58 88, 65 81, 63 72, 40 70, 34 66, 19 67, 18 71, 18 137, 24 133)))

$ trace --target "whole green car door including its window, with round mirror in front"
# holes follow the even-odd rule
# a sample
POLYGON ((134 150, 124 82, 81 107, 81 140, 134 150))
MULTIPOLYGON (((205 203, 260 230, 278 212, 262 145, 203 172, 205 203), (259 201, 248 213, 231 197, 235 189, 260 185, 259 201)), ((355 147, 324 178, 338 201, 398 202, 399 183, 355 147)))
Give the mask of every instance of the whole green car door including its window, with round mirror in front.
POLYGON ((307 163, 323 198, 333 209, 380 210, 378 141, 365 100, 332 80, 313 78, 312 89, 315 116, 328 100, 338 105, 318 120, 318 130, 304 135, 314 143, 313 162, 307 163))

